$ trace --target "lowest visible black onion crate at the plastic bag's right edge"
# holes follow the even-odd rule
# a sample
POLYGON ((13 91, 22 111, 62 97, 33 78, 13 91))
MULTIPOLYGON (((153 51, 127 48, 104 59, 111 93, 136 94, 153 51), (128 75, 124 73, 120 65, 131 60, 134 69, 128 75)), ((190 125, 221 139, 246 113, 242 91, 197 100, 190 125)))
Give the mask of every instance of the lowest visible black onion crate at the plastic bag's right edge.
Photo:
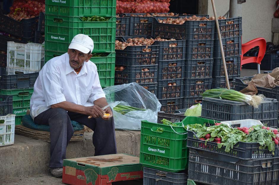
POLYGON ((162 104, 161 111, 174 114, 175 110, 182 109, 183 98, 159 99, 162 104))

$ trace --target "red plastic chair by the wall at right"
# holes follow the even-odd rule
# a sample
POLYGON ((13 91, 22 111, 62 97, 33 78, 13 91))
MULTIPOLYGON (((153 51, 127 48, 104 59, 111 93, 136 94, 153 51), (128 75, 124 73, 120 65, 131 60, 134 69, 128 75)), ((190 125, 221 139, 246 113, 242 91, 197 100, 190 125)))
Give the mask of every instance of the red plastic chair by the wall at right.
POLYGON ((265 50, 266 50, 266 41, 264 38, 255 38, 249 42, 246 42, 245 44, 242 44, 241 46, 241 62, 240 62, 240 70, 243 64, 248 63, 257 63, 258 67, 258 74, 261 73, 260 71, 260 65, 261 61, 264 58, 265 50), (259 46, 259 54, 257 57, 243 57, 243 54, 248 52, 250 49, 259 46))

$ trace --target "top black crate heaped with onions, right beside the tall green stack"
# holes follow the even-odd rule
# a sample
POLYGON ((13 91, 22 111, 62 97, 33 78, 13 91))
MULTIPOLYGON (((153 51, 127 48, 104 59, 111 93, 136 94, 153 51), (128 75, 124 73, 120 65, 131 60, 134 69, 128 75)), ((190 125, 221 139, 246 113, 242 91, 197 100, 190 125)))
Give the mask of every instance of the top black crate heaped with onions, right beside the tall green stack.
POLYGON ((127 46, 124 50, 116 49, 116 65, 157 65, 159 46, 147 46, 151 52, 144 52, 146 46, 127 46))

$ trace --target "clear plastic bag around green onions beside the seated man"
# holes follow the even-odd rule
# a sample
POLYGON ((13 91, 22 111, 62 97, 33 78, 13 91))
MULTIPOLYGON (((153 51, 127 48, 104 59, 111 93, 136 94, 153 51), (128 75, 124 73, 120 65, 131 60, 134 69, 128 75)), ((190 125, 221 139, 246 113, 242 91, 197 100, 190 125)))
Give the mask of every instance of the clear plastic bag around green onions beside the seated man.
POLYGON ((146 109, 146 111, 130 111, 122 115, 113 110, 115 129, 140 130, 141 120, 157 123, 157 112, 161 104, 155 94, 147 91, 137 83, 110 86, 103 89, 111 108, 118 104, 146 109))

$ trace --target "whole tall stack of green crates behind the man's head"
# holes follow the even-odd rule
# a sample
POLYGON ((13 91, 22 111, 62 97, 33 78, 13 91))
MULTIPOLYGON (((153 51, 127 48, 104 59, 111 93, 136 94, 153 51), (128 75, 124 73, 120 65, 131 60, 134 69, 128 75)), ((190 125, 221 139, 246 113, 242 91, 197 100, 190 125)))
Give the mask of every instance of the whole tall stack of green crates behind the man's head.
POLYGON ((64 54, 77 34, 94 41, 93 57, 101 86, 114 85, 116 0, 45 1, 45 62, 64 54), (81 17, 109 17, 108 21, 86 22, 81 17))

